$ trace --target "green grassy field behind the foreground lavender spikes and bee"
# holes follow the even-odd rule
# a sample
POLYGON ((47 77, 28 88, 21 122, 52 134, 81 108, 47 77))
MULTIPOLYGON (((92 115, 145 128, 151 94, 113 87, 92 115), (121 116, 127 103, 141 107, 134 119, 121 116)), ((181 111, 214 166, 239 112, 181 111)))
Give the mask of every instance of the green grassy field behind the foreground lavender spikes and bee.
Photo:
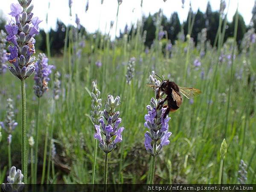
MULTIPOLYGON (((38 117, 37 183, 41 183, 45 149, 45 183, 91 183, 95 150, 95 129, 90 115, 92 81, 96 81, 101 91, 101 110, 105 108, 108 95, 121 98, 117 110, 122 118, 120 125, 125 130, 122 143, 118 143, 108 157, 108 183, 147 183, 151 156, 144 147, 144 134, 148 130, 144 127, 144 116, 150 99, 155 97, 153 89, 147 86, 152 70, 181 87, 195 87, 202 92, 193 100, 184 98, 180 109, 169 113, 172 136, 169 145, 157 155, 154 183, 218 183, 221 162, 221 183, 239 183, 241 160, 247 164, 247 183, 256 183, 255 44, 249 41, 247 49, 239 50, 233 38, 223 42, 224 29, 220 28, 218 47, 200 47, 200 42, 195 47, 187 36, 187 41, 178 39, 169 52, 166 50, 168 41, 165 38, 158 40, 156 35, 146 53, 140 25, 131 35, 116 40, 99 33, 84 39, 83 32, 78 35, 72 32, 76 34, 78 31, 70 30, 69 46, 65 47, 64 55, 49 57, 48 63, 56 69, 51 74, 49 90, 40 98, 39 115, 33 76, 26 79, 29 136, 35 137, 38 117), (85 42, 85 47, 79 47, 81 41, 85 42), (76 55, 79 49, 80 58, 76 55), (206 54, 200 58, 202 49, 206 54), (233 54, 236 55, 234 59, 233 54), (228 55, 231 55, 230 60, 228 55), (127 84, 125 75, 132 57, 136 58, 134 77, 131 84, 127 84), (198 67, 194 65, 196 58, 201 62, 198 67), (102 66, 97 67, 96 61, 101 61, 102 66), (61 73, 58 100, 53 99, 56 71, 61 73), (220 154, 223 139, 227 142, 224 159, 220 154), (51 156, 52 141, 56 147, 54 158, 51 156)), ((36 50, 36 55, 38 53, 36 50)), ((5 101, 12 98, 18 125, 12 132, 11 159, 12 165, 19 169, 20 94, 20 80, 9 70, 2 74, 0 120, 6 117, 5 101)), ((1 132, 0 183, 4 183, 9 169, 8 134, 3 129, 1 132)), ((97 153, 95 183, 103 183, 105 155, 100 149, 97 153)), ((28 182, 33 179, 31 164, 34 156, 35 146, 28 145, 28 182)))

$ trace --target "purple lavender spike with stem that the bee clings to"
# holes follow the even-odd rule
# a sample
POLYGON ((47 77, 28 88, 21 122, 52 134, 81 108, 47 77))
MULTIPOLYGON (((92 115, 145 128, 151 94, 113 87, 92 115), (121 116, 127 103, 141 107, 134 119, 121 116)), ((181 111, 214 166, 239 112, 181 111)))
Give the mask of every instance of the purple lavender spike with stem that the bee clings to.
MULTIPOLYGON (((160 81, 154 78, 155 73, 152 71, 152 74, 149 76, 150 84, 153 86, 160 86, 160 81)), ((158 89, 158 88, 157 88, 158 89)), ((155 94, 157 94, 158 90, 155 90, 155 94)), ((161 93, 160 98, 163 96, 161 93)), ((168 132, 168 122, 171 119, 166 116, 163 118, 163 115, 166 111, 166 108, 163 108, 163 104, 160 104, 162 99, 154 99, 151 98, 150 105, 147 105, 148 114, 145 115, 145 123, 144 126, 149 129, 145 133, 145 148, 151 157, 151 170, 150 170, 150 184, 153 184, 154 180, 154 170, 156 163, 156 156, 160 153, 164 145, 168 145, 170 141, 169 137, 172 135, 172 132, 168 132), (159 143, 160 142, 160 143, 159 143), (153 146, 151 145, 153 143, 153 146), (159 144, 157 144, 159 143, 159 144)))

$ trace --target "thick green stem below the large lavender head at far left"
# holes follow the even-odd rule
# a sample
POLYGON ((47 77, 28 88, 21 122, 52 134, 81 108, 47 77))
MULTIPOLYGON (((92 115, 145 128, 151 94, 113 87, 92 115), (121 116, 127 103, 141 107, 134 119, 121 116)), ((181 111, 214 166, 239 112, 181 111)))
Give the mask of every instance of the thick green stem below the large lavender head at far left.
POLYGON ((26 89, 25 80, 21 80, 22 98, 22 143, 21 143, 21 168, 24 175, 24 183, 27 184, 27 138, 26 138, 26 89))

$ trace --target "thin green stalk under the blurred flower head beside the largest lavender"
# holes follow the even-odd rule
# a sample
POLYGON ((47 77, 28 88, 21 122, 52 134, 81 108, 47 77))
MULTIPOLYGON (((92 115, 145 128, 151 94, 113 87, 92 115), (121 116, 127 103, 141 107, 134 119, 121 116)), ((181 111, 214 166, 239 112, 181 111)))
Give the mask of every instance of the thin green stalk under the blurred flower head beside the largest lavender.
POLYGON ((38 97, 38 106, 36 114, 36 127, 35 127, 35 173, 33 178, 33 183, 36 184, 37 181, 37 166, 38 166, 38 129, 39 129, 39 111, 40 111, 40 98, 38 97))

